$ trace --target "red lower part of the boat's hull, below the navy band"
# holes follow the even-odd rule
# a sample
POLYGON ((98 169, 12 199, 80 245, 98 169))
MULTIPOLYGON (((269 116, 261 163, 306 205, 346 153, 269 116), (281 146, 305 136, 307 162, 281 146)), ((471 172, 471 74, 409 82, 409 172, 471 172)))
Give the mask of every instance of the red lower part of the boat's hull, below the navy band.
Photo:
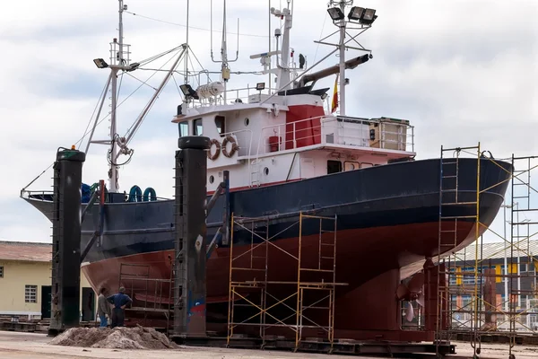
MULTIPOLYGON (((461 223, 458 227, 456 250, 468 245, 473 241, 473 238, 473 223, 461 223)), ((297 254, 298 252, 299 242, 297 239, 273 243, 290 253, 297 254)), ((306 259, 303 260, 301 267, 317 267, 318 237, 304 237, 302 243, 301 257, 306 259)), ((269 248, 267 257, 268 279, 296 281, 297 261, 291 256, 283 254, 282 250, 272 248, 272 246, 269 248)), ((245 246, 234 248, 234 258, 246 249, 245 246)), ((402 279, 421 270, 424 259, 435 259, 437 252, 438 223, 339 231, 336 250, 336 282, 347 285, 338 286, 335 291, 334 337, 358 340, 380 338, 404 341, 433 340, 433 333, 429 331, 402 330, 401 306, 395 298, 395 292, 402 279)), ((168 302, 168 282, 163 288, 157 288, 157 290, 154 287, 148 290, 143 288, 145 284, 135 285, 132 281, 122 280, 120 283, 120 265, 147 266, 145 270, 149 270, 150 278, 168 279, 171 274, 171 259, 173 257, 173 250, 167 250, 122 258, 109 258, 83 265, 82 272, 96 291, 101 287, 106 287, 109 293, 116 292, 117 288, 123 285, 126 287, 127 293, 134 296, 134 302, 145 300, 148 303, 153 302, 155 296, 163 298, 156 302, 168 302)), ((247 256, 244 257, 247 258, 247 256)), ((247 265, 248 263, 244 261, 240 267, 247 267, 247 265)), ((212 257, 207 262, 208 330, 226 332, 228 305, 222 302, 228 302, 229 298, 229 267, 230 250, 214 250, 212 257), (212 304, 217 309, 212 310, 212 304), (212 311, 214 311, 213 314, 212 311), (220 318, 219 313, 221 314, 220 318), (212 317, 215 319, 214 321, 220 321, 220 323, 210 322, 212 317)), ((132 269, 129 270, 129 273, 132 273, 132 269)), ((256 276, 262 275, 258 272, 256 276)), ((245 277, 235 280, 247 279, 245 277)), ((303 278, 303 280, 308 279, 303 278)), ((325 278, 326 280, 328 278, 325 278)), ((276 291, 278 292, 278 289, 276 291)), ((283 298, 286 295, 286 290, 282 289, 281 293, 273 294, 283 298)), ((134 311, 127 314, 133 320, 132 322, 142 320, 140 315, 134 311)), ((324 320, 315 321, 320 323, 324 320)), ((152 325, 162 327, 163 322, 157 320, 152 325)), ((291 330, 289 333, 295 337, 291 330)), ((323 337, 326 334, 319 330, 308 332, 307 329, 303 332, 303 336, 323 337)))

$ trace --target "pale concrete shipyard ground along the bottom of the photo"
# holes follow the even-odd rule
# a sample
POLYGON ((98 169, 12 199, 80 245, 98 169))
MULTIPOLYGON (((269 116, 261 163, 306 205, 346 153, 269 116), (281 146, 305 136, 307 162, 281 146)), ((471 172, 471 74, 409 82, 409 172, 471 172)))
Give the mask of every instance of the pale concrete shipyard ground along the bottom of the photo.
MULTIPOLYGON (((288 353, 261 350, 203 348, 194 346, 182 346, 177 350, 118 350, 118 349, 94 349, 77 346, 50 346, 51 340, 41 333, 22 333, 13 331, 0 331, 0 358, 3 359, 61 359, 61 358, 192 358, 192 359, 284 359, 284 358, 351 358, 357 356, 343 355, 311 355, 305 353, 288 353)), ((456 342, 457 355, 447 355, 447 358, 461 359, 473 356, 473 350, 467 343, 456 342)), ((538 346, 516 346, 513 353, 517 359, 538 357, 538 346)), ((368 359, 369 356, 359 356, 368 359)), ((405 356, 409 358, 410 356, 405 356)), ((420 355, 414 357, 434 358, 435 355, 420 355)), ((378 358, 378 357, 377 357, 378 358)), ((482 346, 481 359, 506 359, 508 358, 508 346, 488 344, 482 346)))

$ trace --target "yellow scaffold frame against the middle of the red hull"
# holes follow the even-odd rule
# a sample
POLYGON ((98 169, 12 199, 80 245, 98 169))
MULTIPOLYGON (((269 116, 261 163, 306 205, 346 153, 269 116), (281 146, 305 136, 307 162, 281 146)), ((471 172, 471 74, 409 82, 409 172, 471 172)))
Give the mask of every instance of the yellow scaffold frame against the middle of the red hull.
MULTIPOLYGON (((306 215, 300 212, 299 220, 293 220, 291 225, 281 232, 269 235, 272 218, 256 217, 247 218, 231 214, 231 241, 230 241, 230 281, 229 281, 229 308, 228 308, 228 335, 227 345, 230 346, 230 341, 233 340, 234 328, 241 326, 259 328, 259 337, 261 338, 262 347, 265 346, 266 330, 269 328, 289 328, 295 334, 295 350, 299 348, 302 339, 303 330, 306 328, 317 328, 324 330, 326 340, 331 344, 334 342, 334 298, 335 289, 338 285, 346 285, 336 283, 336 233, 337 233, 337 217, 325 217, 319 215, 306 215), (307 267, 302 258, 305 247, 305 234, 303 223, 307 220, 319 221, 319 232, 317 233, 317 267, 307 267), (258 223, 256 226, 255 224, 258 223), (329 230, 324 229, 324 223, 333 223, 329 230), (247 228, 248 224, 251 228, 247 228), (299 235, 297 239, 296 252, 282 249, 275 240, 283 232, 291 231, 293 227, 299 225, 299 235), (256 227, 263 227, 265 231, 257 231, 256 227), (236 232, 250 233, 250 242, 245 243, 244 235, 241 243, 242 250, 236 249, 237 243, 234 243, 236 232), (265 235, 261 235, 264 232, 265 235), (271 249, 271 250, 270 250, 271 249), (324 250, 324 249, 328 249, 324 250), (297 275, 294 281, 282 281, 271 279, 271 268, 269 267, 269 259, 271 252, 276 251, 285 258, 292 259, 297 264, 297 275), (325 254, 324 254, 325 253, 325 254), (239 262, 242 258, 242 264, 239 262), (310 273, 308 280, 305 280, 305 273, 310 273), (312 276, 317 276, 314 279, 312 276), (273 295, 275 289, 285 290, 286 295, 279 297, 278 294, 273 295), (292 289, 295 288, 295 289, 292 289), (254 302, 248 297, 247 293, 258 293, 259 302, 254 302), (307 292, 321 293, 321 299, 316 302, 307 303, 307 292), (296 297, 295 308, 287 302, 296 297), (269 304, 268 301, 273 303, 269 304), (249 307, 253 311, 247 319, 236 320, 236 307, 249 307), (291 315, 283 318, 277 317, 271 311, 277 306, 286 307, 293 311, 291 315), (326 321, 324 323, 316 323, 305 315, 307 310, 323 310, 326 311, 326 321), (259 320, 252 322, 256 317, 259 320), (291 321, 291 318, 295 320, 291 321), (267 319, 271 319, 274 323, 268 323, 267 319), (308 322, 308 323, 307 323, 308 322)), ((297 228, 296 228, 297 230, 297 228)), ((308 245, 314 243, 312 234, 309 234, 308 245)), ((237 241, 240 241, 236 238, 237 241)), ((293 246, 291 246, 293 247, 293 246)), ((309 258, 309 262, 312 258, 309 258)), ((311 299, 312 294, 308 296, 311 299)))

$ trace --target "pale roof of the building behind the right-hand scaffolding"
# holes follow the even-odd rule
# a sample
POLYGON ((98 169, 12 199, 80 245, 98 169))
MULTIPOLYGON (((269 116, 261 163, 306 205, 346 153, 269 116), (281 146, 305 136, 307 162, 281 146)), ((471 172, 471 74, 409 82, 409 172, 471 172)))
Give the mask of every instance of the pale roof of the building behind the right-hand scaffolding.
MULTIPOLYGON (((474 260, 476 256, 475 250, 476 245, 471 244, 463 250, 458 251, 456 253, 456 261, 474 260)), ((519 243, 514 241, 513 248, 509 241, 483 243, 482 248, 480 244, 478 245, 478 250, 478 258, 482 260, 504 258, 505 250, 507 251, 507 258, 512 257, 512 250, 514 250, 513 255, 515 258, 533 256, 538 259, 538 239, 519 241, 519 243)))

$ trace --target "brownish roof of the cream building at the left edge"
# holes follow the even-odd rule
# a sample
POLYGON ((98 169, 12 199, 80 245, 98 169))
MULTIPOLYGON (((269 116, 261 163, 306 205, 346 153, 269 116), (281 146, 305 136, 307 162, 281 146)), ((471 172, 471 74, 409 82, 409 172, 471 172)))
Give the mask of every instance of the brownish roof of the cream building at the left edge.
POLYGON ((52 244, 28 241, 0 241, 0 260, 2 259, 49 262, 52 259, 52 244))

